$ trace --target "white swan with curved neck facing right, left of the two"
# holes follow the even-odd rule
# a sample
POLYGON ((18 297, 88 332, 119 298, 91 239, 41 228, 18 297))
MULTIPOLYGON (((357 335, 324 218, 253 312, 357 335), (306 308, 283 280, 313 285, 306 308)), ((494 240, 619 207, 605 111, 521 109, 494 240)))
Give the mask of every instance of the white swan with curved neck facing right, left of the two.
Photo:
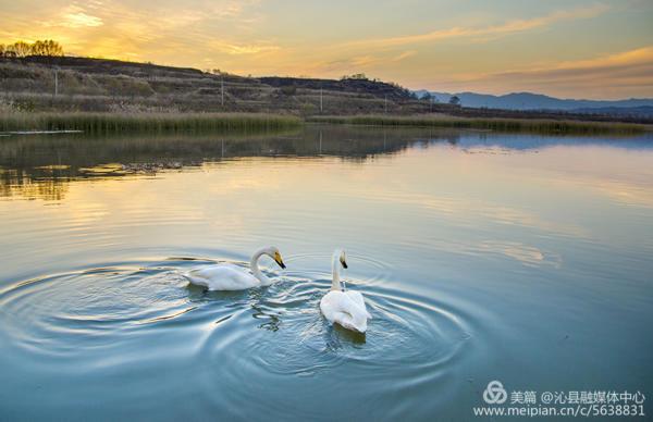
POLYGON ((207 287, 209 290, 244 290, 251 287, 269 286, 273 283, 258 268, 258 260, 263 255, 272 258, 279 266, 285 269, 279 249, 270 246, 258 250, 249 261, 251 273, 242 266, 230 263, 201 266, 182 274, 192 284, 207 287))

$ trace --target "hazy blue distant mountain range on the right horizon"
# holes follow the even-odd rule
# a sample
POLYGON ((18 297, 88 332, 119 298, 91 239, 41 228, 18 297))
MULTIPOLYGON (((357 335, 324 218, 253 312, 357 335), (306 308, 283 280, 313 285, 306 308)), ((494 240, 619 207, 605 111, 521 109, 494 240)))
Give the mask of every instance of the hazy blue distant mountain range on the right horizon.
MULTIPOLYGON (((427 94, 439 102, 448 102, 454 94, 429 92, 426 89, 415 91, 422 98, 427 94)), ((464 107, 503 109, 503 110, 562 110, 577 113, 631 114, 653 116, 653 98, 631 98, 627 100, 574 100, 560 99, 532 92, 515 92, 504 96, 488 94, 455 94, 464 107)))

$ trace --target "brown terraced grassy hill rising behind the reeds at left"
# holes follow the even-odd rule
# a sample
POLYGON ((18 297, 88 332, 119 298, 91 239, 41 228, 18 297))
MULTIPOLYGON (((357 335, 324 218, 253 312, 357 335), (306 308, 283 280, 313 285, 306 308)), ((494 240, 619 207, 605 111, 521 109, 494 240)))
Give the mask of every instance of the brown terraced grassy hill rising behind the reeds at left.
POLYGON ((73 57, 0 59, 0 91, 4 107, 26 111, 338 114, 414 112, 420 107, 408 89, 360 76, 254 78, 73 57))

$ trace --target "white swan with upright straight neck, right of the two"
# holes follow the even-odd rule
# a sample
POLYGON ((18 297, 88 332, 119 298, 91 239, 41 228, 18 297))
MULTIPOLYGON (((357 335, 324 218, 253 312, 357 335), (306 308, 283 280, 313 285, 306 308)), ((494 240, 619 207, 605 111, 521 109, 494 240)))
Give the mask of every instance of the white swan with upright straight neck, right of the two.
POLYGON ((333 266, 331 291, 320 300, 320 310, 330 323, 336 322, 345 328, 365 333, 367 320, 371 320, 372 315, 365 307, 362 295, 358 291, 346 290, 344 282, 341 286, 340 268, 341 265, 347 268, 345 251, 336 249, 333 252, 331 264, 333 266))

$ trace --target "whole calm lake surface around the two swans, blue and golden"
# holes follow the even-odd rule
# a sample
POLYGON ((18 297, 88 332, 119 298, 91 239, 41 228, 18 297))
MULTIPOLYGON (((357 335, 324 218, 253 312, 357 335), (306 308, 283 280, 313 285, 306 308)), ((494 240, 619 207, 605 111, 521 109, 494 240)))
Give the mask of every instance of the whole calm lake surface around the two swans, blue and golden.
POLYGON ((0 233, 0 420, 475 420, 492 380, 653 397, 651 137, 5 136, 0 233), (180 276, 268 245, 271 287, 180 276), (366 335, 320 315, 336 247, 366 335))

